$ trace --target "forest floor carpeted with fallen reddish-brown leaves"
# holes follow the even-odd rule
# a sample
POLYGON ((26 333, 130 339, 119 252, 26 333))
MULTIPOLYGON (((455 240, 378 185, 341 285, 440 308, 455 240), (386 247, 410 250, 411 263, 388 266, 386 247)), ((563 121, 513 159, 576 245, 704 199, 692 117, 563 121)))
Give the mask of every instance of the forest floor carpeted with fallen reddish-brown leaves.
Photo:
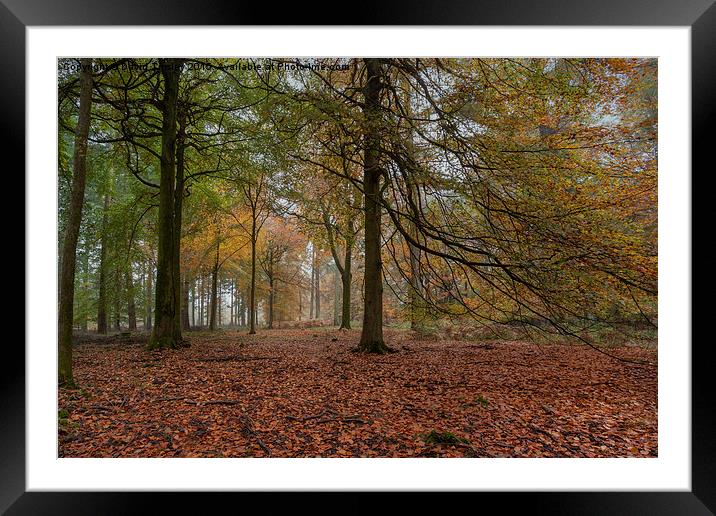
MULTIPOLYGON (((61 457, 655 457, 657 369, 588 347, 358 331, 85 337, 61 457)), ((656 349, 610 348, 656 362, 656 349)))

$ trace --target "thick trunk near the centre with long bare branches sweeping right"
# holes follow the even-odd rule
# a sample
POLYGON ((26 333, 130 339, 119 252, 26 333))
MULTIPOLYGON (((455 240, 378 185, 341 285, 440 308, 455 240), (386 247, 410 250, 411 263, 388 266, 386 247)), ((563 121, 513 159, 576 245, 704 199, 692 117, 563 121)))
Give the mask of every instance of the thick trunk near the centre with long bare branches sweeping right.
POLYGON ((358 348, 368 353, 385 353, 383 341, 383 270, 380 256, 380 91, 378 59, 364 59, 365 87, 364 171, 365 211, 365 300, 363 329, 358 348))

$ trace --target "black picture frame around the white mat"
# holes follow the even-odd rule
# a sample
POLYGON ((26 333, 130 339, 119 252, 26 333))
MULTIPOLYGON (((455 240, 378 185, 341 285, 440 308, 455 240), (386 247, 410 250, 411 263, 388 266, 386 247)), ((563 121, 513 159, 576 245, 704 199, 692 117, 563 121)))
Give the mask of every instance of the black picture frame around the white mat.
MULTIPOLYGON (((714 0, 429 0, 412 3, 366 1, 354 6, 355 12, 340 4, 268 2, 170 2, 125 0, 0 0, 0 72, 3 156, 20 157, 12 170, 24 170, 25 148, 25 29, 42 25, 571 25, 571 26, 690 26, 692 71, 692 170, 698 164, 713 175, 709 153, 713 147, 716 122, 716 6, 714 0)), ((4 168, 7 163, 3 163, 4 168)), ((8 168, 6 168, 8 170, 8 168)), ((694 173, 691 173, 693 181, 694 173)), ((8 177, 7 175, 5 177, 8 177)), ((702 179, 699 179, 701 185, 702 179)), ((24 181, 18 185, 24 191, 24 181)), ((693 189, 694 195, 709 189, 693 189)), ((692 206, 706 206, 704 216, 692 215, 692 235, 709 235, 714 203, 702 199, 692 206), (701 226, 699 226, 701 224, 701 226), (700 228, 700 230, 697 230, 700 228)), ((18 240, 19 241, 19 240, 18 240)), ((705 244, 704 244, 705 245, 705 244)), ((692 248, 692 268, 696 255, 692 248)), ((713 265, 707 258, 705 265, 713 265)), ((668 271, 660 271, 668 273, 668 271)), ((25 270, 25 275, 32 274, 25 270)), ((692 272, 693 274, 693 272, 692 272)), ((697 289, 708 286, 699 281, 697 289)), ((32 307, 27 307, 32 309, 32 307)), ((693 303, 692 321, 708 320, 710 308, 693 303), (697 315, 698 314, 698 315, 697 315)), ((25 314, 27 321, 27 313, 25 314)), ((150 503, 159 502, 162 513, 244 512, 248 504, 258 503, 262 513, 283 513, 280 507, 301 507, 312 512, 373 512, 383 504, 380 493, 348 493, 329 503, 324 493, 75 493, 25 492, 25 353, 15 340, 8 342, 6 366, 0 375, 0 511, 7 514, 124 514, 156 512, 150 503), (239 498, 240 500, 237 500, 239 498), (200 510, 199 510, 200 508, 200 510)), ((528 492, 471 493, 441 497, 444 513, 453 504, 477 509, 487 502, 510 510, 523 506, 530 512, 545 514, 713 514, 716 511, 716 439, 714 408, 709 394, 712 361, 708 339, 692 338, 692 490, 690 492, 528 492), (449 498, 449 499, 448 499, 449 498)), ((430 506, 424 493, 402 495, 401 512, 430 506)), ((524 509, 523 509, 524 510, 524 509)), ((422 511, 420 511, 422 512, 422 511)))

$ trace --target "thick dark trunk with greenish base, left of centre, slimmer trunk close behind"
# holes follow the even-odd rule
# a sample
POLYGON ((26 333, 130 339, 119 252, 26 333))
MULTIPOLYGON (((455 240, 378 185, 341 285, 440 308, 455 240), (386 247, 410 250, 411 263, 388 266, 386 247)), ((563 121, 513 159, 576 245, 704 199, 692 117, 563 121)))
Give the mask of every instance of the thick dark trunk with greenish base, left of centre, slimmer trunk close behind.
MULTIPOLYGON (((160 60, 164 78, 162 99, 162 151, 159 181, 159 246, 157 255, 156 321, 148 347, 177 348, 179 299, 174 282, 174 181, 176 176, 177 99, 181 61, 160 60)), ((177 236, 178 238, 178 236, 177 236)))

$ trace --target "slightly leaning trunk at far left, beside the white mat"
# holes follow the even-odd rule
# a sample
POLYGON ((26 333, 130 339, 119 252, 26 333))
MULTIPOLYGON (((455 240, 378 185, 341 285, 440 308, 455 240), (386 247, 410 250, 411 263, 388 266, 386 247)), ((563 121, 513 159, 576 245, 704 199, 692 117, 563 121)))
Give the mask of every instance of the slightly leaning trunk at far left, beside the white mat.
POLYGON ((87 179, 87 136, 92 108, 92 60, 80 60, 80 107, 75 131, 72 161, 72 194, 70 212, 62 245, 60 271, 60 306, 58 316, 58 375, 59 385, 73 386, 72 324, 74 320, 75 265, 77 240, 82 223, 85 183, 87 179))

